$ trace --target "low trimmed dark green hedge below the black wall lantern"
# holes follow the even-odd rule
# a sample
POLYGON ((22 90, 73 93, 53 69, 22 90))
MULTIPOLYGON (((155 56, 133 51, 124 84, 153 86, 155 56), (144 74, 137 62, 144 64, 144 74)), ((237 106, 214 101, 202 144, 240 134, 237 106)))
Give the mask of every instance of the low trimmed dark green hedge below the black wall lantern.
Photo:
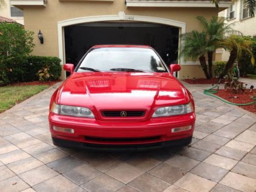
POLYGON ((60 59, 58 57, 28 56, 23 63, 10 66, 9 80, 11 82, 27 82, 39 80, 37 72, 49 66, 50 80, 57 80, 61 75, 60 59))

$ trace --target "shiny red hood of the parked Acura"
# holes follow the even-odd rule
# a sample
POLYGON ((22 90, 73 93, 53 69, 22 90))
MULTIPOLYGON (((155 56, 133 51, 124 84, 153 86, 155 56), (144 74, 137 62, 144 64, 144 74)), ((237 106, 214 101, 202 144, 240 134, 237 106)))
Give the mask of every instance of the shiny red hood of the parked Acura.
POLYGON ((74 73, 59 88, 57 103, 99 110, 185 104, 189 96, 169 73, 74 73))

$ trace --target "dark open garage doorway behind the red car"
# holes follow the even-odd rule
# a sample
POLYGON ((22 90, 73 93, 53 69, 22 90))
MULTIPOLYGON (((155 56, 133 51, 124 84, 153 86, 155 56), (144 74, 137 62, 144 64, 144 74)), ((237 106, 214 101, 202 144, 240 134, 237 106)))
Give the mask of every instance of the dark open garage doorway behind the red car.
POLYGON ((94 45, 149 45, 165 63, 178 62, 179 28, 152 23, 84 23, 67 26, 65 32, 66 63, 76 66, 94 45))

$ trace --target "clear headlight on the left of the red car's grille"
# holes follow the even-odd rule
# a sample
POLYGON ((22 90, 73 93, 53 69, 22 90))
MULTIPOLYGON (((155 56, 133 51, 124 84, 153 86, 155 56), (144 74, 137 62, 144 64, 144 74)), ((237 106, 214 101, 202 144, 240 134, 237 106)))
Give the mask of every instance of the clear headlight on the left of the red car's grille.
POLYGON ((69 105, 59 105, 56 103, 52 104, 51 111, 60 115, 69 115, 76 117, 91 117, 94 115, 92 111, 88 108, 81 108, 79 106, 69 106, 69 105))

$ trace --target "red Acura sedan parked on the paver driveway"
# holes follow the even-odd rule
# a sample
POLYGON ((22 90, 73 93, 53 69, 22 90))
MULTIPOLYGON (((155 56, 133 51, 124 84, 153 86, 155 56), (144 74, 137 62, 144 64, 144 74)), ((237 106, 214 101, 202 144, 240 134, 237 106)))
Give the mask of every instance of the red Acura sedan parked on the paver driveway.
POLYGON ((150 46, 92 47, 54 92, 49 123, 57 146, 145 150, 191 142, 195 104, 150 46))

